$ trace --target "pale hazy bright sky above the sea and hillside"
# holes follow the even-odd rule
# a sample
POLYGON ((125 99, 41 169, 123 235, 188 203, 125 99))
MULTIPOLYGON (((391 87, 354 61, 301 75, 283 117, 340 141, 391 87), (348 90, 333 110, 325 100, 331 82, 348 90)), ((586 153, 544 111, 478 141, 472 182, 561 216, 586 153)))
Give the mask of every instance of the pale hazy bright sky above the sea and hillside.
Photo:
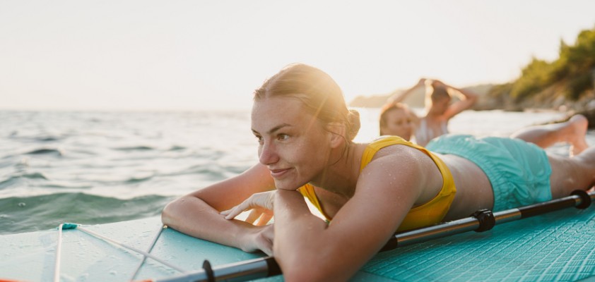
POLYGON ((509 82, 595 27, 595 1, 0 1, 0 109, 249 109, 290 63, 346 101, 509 82))

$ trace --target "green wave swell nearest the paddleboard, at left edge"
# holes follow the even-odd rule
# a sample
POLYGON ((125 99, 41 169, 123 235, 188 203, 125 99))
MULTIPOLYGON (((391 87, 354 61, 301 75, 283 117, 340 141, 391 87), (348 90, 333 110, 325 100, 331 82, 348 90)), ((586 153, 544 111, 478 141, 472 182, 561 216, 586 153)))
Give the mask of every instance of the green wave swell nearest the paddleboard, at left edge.
POLYGON ((60 223, 99 224, 161 213, 173 197, 145 195, 130 200, 81 192, 0 199, 0 234, 56 228, 60 223), (57 208, 59 207, 59 208, 57 208))

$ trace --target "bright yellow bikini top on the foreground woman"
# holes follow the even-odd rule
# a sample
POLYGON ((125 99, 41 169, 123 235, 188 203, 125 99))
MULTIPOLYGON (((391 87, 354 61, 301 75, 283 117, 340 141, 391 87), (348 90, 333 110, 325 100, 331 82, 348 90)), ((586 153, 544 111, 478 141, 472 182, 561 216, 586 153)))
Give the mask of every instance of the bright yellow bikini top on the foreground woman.
MULTIPOLYGON (((424 226, 430 226, 435 223, 439 223, 444 219, 444 216, 447 214, 450 205, 452 204, 452 200, 454 200, 454 195, 456 193, 456 188, 454 187, 454 179, 452 178, 452 174, 450 173, 446 164, 442 159, 439 159, 430 151, 425 149, 424 147, 415 145, 411 142, 403 140, 403 138, 398 136, 382 136, 379 137, 377 140, 374 140, 364 150, 362 156, 362 163, 360 165, 360 171, 362 171, 367 164, 372 161, 372 157, 378 152, 379 149, 390 145, 405 145, 408 147, 416 148, 421 152, 430 157, 440 173, 442 173, 442 189, 438 192, 438 195, 434 197, 429 202, 425 204, 421 204, 420 206, 413 207, 403 219, 401 226, 396 231, 406 231, 413 228, 419 228, 424 226)), ((316 192, 314 192, 314 186, 311 184, 303 185, 302 187, 298 188, 298 191, 307 197, 310 202, 317 207, 317 209, 326 217, 327 220, 331 220, 331 217, 324 213, 322 210, 322 206, 318 201, 318 197, 316 196, 316 192)))

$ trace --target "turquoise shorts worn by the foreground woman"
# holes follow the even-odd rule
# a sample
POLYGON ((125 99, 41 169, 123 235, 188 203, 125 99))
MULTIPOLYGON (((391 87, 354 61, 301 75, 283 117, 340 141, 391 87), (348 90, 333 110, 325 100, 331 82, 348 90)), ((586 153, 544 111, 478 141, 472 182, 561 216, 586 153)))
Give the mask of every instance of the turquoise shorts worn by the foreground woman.
POLYGON ((513 138, 442 135, 426 148, 477 164, 492 184, 494 212, 552 199, 552 168, 537 145, 513 138))

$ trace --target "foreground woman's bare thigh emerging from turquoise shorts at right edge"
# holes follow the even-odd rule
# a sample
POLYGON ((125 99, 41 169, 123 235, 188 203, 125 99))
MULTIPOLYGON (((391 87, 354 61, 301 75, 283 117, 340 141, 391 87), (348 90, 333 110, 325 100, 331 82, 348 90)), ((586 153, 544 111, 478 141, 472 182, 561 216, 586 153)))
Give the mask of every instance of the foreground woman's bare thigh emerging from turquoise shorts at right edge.
POLYGON ((550 185, 554 199, 566 197, 573 190, 589 190, 595 184, 595 147, 573 158, 548 155, 552 174, 550 185))

